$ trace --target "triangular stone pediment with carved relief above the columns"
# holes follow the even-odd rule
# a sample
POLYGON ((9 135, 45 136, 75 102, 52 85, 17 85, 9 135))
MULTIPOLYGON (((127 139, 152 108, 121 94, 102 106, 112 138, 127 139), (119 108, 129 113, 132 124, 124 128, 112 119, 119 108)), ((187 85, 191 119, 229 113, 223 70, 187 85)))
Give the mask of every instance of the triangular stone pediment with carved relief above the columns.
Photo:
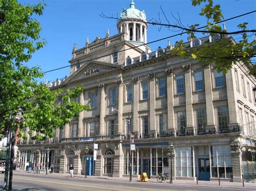
POLYGON ((97 75, 99 73, 104 73, 115 68, 121 68, 121 65, 115 65, 113 63, 99 62, 99 61, 90 61, 82 65, 76 72, 71 74, 68 79, 65 80, 65 83, 70 81, 76 81, 84 79, 85 77, 97 75))

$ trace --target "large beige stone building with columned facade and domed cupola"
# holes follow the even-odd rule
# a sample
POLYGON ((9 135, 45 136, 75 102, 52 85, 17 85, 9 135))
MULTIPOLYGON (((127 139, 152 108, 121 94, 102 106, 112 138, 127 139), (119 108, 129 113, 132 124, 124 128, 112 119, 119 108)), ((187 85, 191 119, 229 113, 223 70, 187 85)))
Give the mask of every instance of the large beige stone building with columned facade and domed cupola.
MULTIPOLYGON (((55 172, 67 173, 73 164, 75 174, 84 174, 87 147, 87 175, 128 176, 130 127, 136 144, 135 177, 169 172, 167 145, 173 143, 175 179, 196 180, 198 175, 199 180, 213 181, 220 175, 241 181, 243 172, 255 171, 255 78, 248 75, 250 64, 237 62, 224 75, 213 69, 214 63, 202 66, 197 60, 171 56, 170 42, 152 51, 146 44, 149 26, 141 19, 146 22, 145 12, 132 2, 121 13, 116 35, 107 30, 105 38, 92 43, 87 39, 85 47, 77 49, 75 44, 70 76, 48 86, 82 86, 78 102, 91 109, 56 130, 55 138, 19 140, 22 167, 31 160, 43 169, 49 148, 55 172)), ((225 38, 235 43, 232 37, 225 38)), ((211 46, 219 39, 195 38, 184 46, 211 46)))

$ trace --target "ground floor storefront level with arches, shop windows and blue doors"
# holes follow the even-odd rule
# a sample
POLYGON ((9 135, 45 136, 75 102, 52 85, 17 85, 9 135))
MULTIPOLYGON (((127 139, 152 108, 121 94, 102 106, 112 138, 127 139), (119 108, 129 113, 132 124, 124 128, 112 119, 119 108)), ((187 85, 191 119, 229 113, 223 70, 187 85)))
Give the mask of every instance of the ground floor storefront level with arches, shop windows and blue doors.
POLYGON ((105 140, 93 142, 66 142, 49 145, 20 145, 18 161, 21 168, 25 162, 39 164, 40 169, 54 167, 55 173, 68 173, 69 165, 74 174, 97 176, 139 177, 146 172, 149 177, 171 172, 171 158, 167 145, 174 145, 172 158, 173 179, 241 182, 245 166, 250 164, 254 171, 255 160, 248 161, 251 152, 244 140, 234 137, 177 137, 136 140, 136 150, 131 152, 126 140, 105 140), (94 144, 98 144, 97 155, 93 158, 94 144), (85 152, 85 148, 89 151, 85 152), (49 149, 49 160, 48 150, 49 149), (85 168, 86 167, 86 168, 85 168))

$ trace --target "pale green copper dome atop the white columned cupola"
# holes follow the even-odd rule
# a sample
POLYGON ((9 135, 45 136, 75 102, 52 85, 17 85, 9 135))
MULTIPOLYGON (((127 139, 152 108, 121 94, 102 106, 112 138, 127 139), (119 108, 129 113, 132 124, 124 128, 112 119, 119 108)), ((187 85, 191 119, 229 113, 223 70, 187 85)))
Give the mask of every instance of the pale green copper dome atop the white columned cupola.
POLYGON ((132 0, 130 4, 130 9, 123 9, 121 13, 121 19, 126 18, 137 18, 146 21, 146 14, 144 10, 140 11, 138 9, 135 9, 135 3, 132 0))

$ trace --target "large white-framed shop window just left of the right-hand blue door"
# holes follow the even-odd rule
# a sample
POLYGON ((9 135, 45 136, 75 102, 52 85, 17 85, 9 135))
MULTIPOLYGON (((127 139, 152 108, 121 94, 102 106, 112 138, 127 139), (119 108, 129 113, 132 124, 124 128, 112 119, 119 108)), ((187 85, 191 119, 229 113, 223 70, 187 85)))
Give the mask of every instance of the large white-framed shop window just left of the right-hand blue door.
POLYGON ((176 176, 192 177, 193 176, 193 148, 175 147, 176 157, 176 176))

